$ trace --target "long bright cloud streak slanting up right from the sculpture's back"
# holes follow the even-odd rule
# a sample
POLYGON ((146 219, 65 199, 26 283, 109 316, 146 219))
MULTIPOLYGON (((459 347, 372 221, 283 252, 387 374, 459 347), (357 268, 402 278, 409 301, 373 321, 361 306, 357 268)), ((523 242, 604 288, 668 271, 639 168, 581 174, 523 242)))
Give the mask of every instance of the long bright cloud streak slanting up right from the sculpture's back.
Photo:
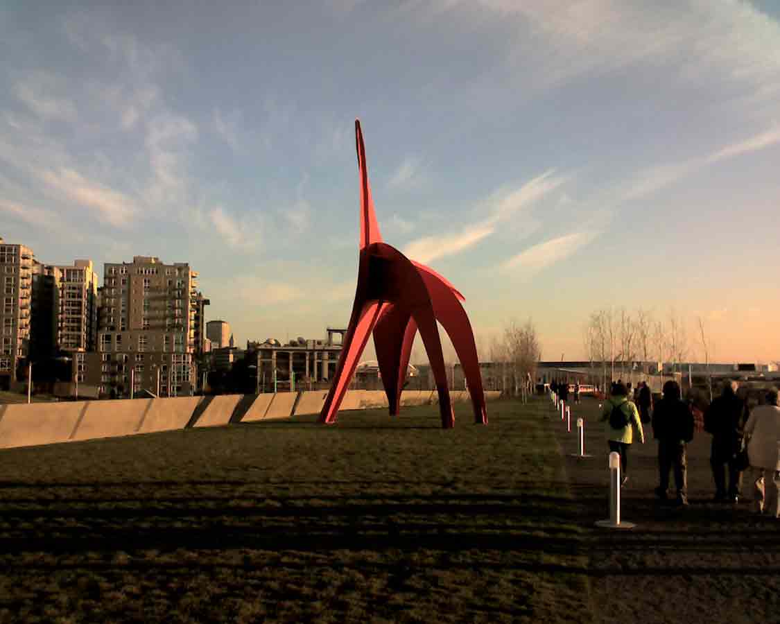
POLYGON ((480 211, 488 217, 467 224, 456 232, 440 236, 425 236, 406 246, 404 253, 418 262, 431 262, 438 258, 459 254, 496 232, 501 222, 506 222, 519 211, 534 204, 544 195, 555 190, 565 181, 563 176, 554 176, 552 171, 531 179, 517 189, 503 188, 480 202, 480 211))

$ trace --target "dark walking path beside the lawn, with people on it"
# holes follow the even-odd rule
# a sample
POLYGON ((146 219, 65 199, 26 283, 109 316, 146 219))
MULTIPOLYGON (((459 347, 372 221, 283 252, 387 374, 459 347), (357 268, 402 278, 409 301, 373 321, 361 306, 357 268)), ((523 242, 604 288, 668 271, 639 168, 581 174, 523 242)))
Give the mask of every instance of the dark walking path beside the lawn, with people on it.
MULTIPOLYGON (((608 517, 608 449, 605 425, 597 423, 597 403, 576 406, 586 419, 586 450, 576 453, 576 434, 550 410, 566 461, 566 471, 590 555, 591 603, 596 622, 780 622, 780 522, 753 516, 750 502, 711 502, 708 434, 689 449, 690 507, 659 504, 657 444, 634 444, 629 483, 623 491, 622 519, 631 531, 600 530, 608 517)), ((573 414, 574 418, 574 414, 573 414)), ((750 495, 748 483, 743 493, 750 495)))

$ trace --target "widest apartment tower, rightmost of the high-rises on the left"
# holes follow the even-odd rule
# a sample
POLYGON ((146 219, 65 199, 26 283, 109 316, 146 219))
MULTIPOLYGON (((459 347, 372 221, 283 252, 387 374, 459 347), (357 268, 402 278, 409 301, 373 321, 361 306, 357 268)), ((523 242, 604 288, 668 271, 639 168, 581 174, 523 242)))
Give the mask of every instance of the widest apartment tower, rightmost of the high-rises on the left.
POLYGON ((131 383, 136 394, 193 392, 203 307, 196 287, 197 273, 187 263, 136 256, 132 263, 105 264, 97 341, 101 394, 129 395, 131 383))

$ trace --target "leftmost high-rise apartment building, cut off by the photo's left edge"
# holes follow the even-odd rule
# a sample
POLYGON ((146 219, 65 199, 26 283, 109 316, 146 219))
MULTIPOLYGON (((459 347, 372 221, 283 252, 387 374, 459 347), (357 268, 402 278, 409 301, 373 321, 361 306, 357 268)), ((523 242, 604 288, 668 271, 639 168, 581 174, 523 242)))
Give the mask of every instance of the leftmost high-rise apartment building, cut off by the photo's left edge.
POLYGON ((33 250, 0 238, 0 388, 16 386, 16 369, 30 342, 33 250))

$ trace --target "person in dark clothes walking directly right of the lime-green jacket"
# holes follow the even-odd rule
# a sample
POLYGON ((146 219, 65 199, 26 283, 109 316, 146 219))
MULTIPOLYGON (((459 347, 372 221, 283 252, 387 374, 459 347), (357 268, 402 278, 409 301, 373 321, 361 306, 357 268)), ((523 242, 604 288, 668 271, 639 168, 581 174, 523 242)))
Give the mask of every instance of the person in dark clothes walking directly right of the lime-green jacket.
POLYGON ((668 500, 669 470, 674 467, 677 504, 688 505, 687 443, 693 440, 693 414, 680 399, 676 381, 664 384, 664 396, 653 410, 653 437, 658 440, 659 485, 655 495, 668 500))

